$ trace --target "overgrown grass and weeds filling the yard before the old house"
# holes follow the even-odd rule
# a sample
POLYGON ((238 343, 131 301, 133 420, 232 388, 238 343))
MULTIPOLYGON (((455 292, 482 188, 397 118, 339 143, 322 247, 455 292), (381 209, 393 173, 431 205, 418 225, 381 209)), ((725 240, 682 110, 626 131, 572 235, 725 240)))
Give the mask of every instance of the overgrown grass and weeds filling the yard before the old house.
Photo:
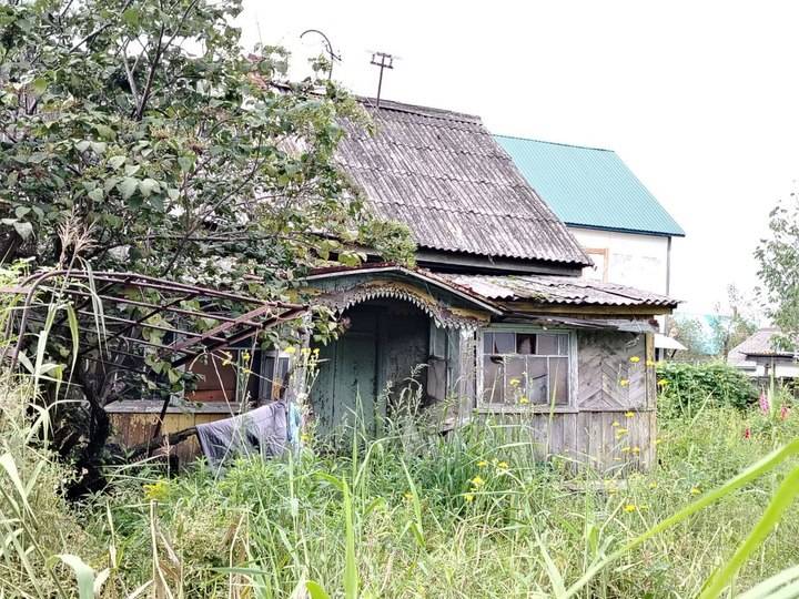
MULTIPOLYGON (((119 469, 105 493, 77 508, 59 494, 69 470, 27 443, 20 406, 30 389, 6 388, 2 454, 22 485, 16 493, 3 480, 7 597, 77 596, 60 554, 104 571, 103 597, 563 595, 603 556, 799 433, 799 414, 702 409, 661 420, 657 467, 621 480, 536 463, 530 445, 505 443, 499 427, 443 439, 404 426, 377 441, 355 437, 345 455, 312 444, 284 460, 240 461, 221 478, 203 467, 171 479, 119 469)), ((696 597, 789 466, 598 569, 576 596, 696 597)), ((749 556, 737 588, 798 564, 797 538, 791 508, 749 556)))

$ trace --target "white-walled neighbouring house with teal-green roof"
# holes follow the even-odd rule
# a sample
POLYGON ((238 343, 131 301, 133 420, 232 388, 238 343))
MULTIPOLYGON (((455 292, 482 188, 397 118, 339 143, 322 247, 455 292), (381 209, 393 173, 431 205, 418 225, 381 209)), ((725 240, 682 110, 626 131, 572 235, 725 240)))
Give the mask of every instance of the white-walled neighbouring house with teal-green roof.
POLYGON ((671 240, 685 232, 616 152, 495 139, 594 261, 584 276, 670 293, 671 240))

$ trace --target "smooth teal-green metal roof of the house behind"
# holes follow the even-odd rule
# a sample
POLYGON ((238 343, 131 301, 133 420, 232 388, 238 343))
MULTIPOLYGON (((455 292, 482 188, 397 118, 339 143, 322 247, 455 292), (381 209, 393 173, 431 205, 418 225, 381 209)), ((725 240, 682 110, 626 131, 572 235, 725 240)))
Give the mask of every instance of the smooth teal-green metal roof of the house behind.
POLYGON ((494 138, 530 186, 566 224, 685 235, 616 152, 507 135, 494 138))

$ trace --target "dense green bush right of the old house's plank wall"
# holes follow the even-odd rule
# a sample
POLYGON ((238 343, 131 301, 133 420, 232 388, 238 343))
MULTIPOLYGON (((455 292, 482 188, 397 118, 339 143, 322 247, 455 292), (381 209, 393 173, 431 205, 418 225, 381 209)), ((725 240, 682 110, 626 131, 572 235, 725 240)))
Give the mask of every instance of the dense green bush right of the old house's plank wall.
POLYGON ((694 413, 704 405, 742 409, 757 398, 749 378, 722 362, 663 362, 657 375, 663 410, 694 413))

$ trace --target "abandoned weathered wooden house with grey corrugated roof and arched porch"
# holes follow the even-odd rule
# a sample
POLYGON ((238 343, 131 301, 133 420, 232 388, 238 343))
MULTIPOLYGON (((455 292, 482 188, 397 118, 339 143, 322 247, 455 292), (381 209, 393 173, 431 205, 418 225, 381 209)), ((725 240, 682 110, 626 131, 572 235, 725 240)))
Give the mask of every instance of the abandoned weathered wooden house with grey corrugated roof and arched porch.
MULTIPOLYGON (((543 455, 651 464, 655 317, 676 302, 583 278, 589 256, 478 118, 385 100, 366 108, 376 132, 347 124, 337 160, 377 215, 409 227, 417 266, 370 255, 303 281, 305 302, 345 323, 317 348, 317 429, 355 413, 376 426, 413 389, 425 406, 447 406, 445 427, 495 416, 526 427, 543 455)), ((274 399, 273 382, 299 354, 261 354, 253 398, 274 399)), ((164 432, 230 415, 223 399, 241 396, 240 378, 206 367, 226 373, 223 384, 209 377, 186 397, 201 404, 170 407, 181 422, 164 432)), ((141 404, 110 409, 128 441, 158 417, 141 404)))

